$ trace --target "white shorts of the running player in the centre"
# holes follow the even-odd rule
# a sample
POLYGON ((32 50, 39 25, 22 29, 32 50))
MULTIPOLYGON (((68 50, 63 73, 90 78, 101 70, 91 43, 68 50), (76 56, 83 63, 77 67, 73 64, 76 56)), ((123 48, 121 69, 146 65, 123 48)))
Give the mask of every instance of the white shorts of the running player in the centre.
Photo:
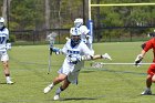
POLYGON ((66 74, 69 82, 78 84, 78 76, 81 69, 82 62, 79 62, 78 64, 71 64, 65 59, 62 68, 58 71, 58 73, 66 74))

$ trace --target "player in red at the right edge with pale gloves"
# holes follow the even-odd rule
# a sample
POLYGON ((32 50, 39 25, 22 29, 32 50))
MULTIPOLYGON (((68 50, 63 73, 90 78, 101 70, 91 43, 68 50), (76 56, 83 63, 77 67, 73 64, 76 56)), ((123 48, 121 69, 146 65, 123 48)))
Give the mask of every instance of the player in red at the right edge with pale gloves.
POLYGON ((149 65, 148 70, 147 70, 147 78, 146 78, 146 89, 144 92, 142 92, 142 95, 151 95, 152 91, 151 91, 151 86, 152 83, 155 83, 155 38, 146 41, 144 44, 142 44, 143 50, 141 51, 141 53, 136 56, 135 59, 135 65, 140 65, 145 53, 153 49, 153 54, 154 54, 154 60, 153 60, 153 64, 149 65))

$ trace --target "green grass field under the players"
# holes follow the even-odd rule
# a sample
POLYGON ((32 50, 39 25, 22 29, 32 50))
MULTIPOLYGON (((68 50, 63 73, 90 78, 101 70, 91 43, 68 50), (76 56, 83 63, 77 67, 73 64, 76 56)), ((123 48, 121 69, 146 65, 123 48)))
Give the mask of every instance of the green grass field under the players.
MULTIPOLYGON (((134 62, 141 52, 142 42, 95 43, 95 54, 107 52, 113 61, 97 62, 134 62)), ((62 48, 63 45, 55 45, 62 48)), ((85 68, 79 76, 79 85, 71 84, 62 92, 61 101, 53 101, 56 85, 50 93, 43 94, 43 89, 55 78, 64 55, 52 55, 52 71, 48 72, 48 45, 12 47, 10 54, 10 71, 13 85, 7 85, 2 66, 0 69, 0 103, 153 103, 155 95, 142 96, 145 89, 146 70, 148 65, 104 65, 102 69, 85 68)), ((152 62, 149 51, 143 62, 152 62)), ((152 86, 155 94, 155 86, 152 86)))

